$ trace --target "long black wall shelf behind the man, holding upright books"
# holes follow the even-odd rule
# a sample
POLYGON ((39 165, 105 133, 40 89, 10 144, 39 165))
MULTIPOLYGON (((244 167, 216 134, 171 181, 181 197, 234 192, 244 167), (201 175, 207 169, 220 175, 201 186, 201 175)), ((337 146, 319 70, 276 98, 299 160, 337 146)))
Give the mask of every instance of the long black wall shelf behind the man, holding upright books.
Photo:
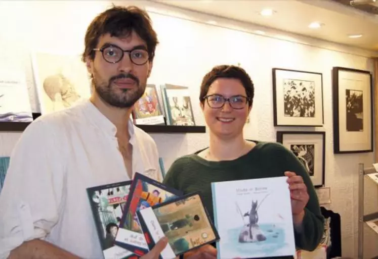
MULTIPOLYGON (((35 120, 40 113, 33 113, 35 120)), ((0 122, 0 131, 22 132, 29 122, 0 122)), ((173 126, 173 125, 135 125, 148 133, 205 133, 205 126, 173 126)))

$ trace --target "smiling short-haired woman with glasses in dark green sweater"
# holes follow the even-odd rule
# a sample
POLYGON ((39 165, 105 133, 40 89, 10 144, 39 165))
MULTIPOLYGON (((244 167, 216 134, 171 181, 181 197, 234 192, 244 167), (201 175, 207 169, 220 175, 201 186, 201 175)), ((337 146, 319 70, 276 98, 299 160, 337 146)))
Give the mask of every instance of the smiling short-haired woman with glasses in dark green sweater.
MULTIPOLYGON (((222 65, 208 72, 202 80, 199 100, 209 128, 209 145, 177 159, 167 172, 164 184, 184 193, 200 191, 214 220, 212 182, 285 175, 291 195, 296 246, 314 250, 324 229, 314 186, 302 163, 283 145, 244 139, 243 127, 253 107, 253 98, 254 84, 242 68, 222 65)), ((208 245, 190 253, 208 252, 216 258, 214 250, 208 245)))

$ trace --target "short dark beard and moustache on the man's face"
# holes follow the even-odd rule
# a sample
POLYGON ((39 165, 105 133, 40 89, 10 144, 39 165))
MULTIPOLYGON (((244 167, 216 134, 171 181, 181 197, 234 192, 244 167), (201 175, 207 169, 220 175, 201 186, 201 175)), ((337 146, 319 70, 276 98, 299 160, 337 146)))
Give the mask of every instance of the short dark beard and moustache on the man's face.
POLYGON ((139 79, 132 74, 119 74, 109 79, 109 82, 99 80, 98 73, 95 72, 92 77, 92 84, 95 91, 108 105, 117 108, 131 108, 134 103, 142 97, 144 90, 146 89, 146 82, 143 85, 140 84, 139 79), (112 83, 121 78, 130 78, 135 81, 135 88, 133 89, 120 89, 121 93, 117 93, 118 89, 115 88, 112 83))

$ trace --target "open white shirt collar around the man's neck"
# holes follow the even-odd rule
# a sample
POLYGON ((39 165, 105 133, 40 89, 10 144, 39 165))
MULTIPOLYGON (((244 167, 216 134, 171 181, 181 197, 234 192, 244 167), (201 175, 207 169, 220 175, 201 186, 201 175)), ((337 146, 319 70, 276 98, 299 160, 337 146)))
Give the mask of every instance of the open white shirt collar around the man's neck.
MULTIPOLYGON (((106 118, 105 115, 103 115, 99 109, 92 103, 90 99, 86 99, 83 102, 84 106, 84 113, 87 119, 91 120, 91 122, 100 130, 105 132, 106 134, 111 135, 112 137, 115 137, 117 134, 117 128, 115 125, 106 118)), ((135 130, 134 130, 134 123, 131 118, 129 118, 128 121, 128 128, 129 128, 129 134, 130 134, 130 143, 135 143, 135 130)))

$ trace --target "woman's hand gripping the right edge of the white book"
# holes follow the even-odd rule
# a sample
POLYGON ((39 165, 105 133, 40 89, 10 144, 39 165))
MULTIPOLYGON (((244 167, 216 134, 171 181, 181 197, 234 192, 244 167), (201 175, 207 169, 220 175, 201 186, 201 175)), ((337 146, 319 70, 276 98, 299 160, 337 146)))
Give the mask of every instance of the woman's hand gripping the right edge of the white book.
POLYGON ((303 182, 303 178, 296 173, 286 171, 285 176, 288 177, 287 183, 289 184, 290 198, 291 198, 291 213, 294 223, 296 225, 302 224, 303 217, 305 216, 305 206, 309 201, 309 194, 307 186, 303 182))

